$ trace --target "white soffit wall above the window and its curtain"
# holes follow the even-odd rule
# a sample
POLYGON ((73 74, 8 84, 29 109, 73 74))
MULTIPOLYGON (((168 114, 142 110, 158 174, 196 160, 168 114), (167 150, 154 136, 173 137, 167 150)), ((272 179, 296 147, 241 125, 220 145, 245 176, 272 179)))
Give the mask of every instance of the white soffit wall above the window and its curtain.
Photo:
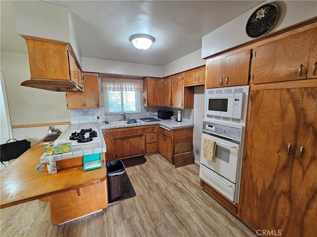
POLYGON ((162 77, 162 67, 82 57, 83 71, 138 77, 162 77))

